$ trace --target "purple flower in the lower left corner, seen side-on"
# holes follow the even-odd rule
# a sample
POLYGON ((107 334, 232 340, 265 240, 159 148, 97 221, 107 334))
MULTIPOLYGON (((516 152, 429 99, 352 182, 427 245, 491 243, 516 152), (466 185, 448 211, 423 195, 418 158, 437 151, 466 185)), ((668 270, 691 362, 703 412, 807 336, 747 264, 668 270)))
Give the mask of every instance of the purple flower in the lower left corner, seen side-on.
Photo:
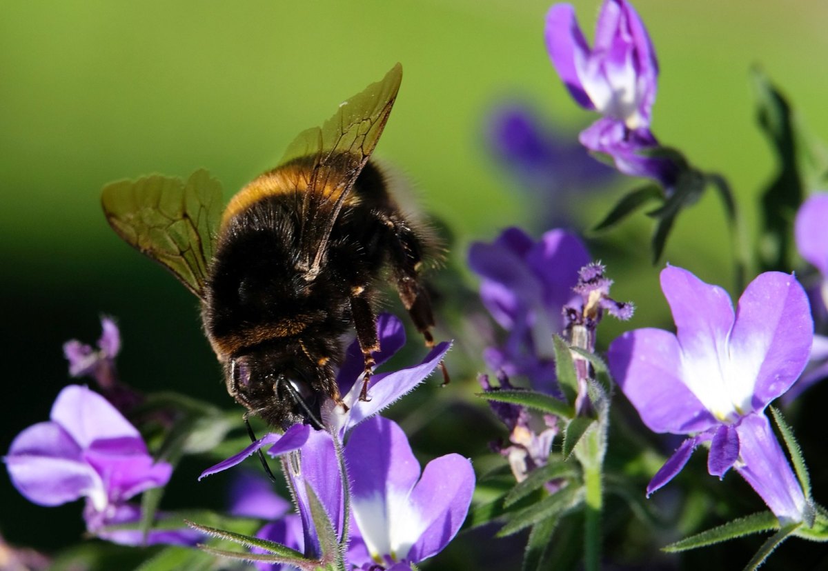
MULTIPOLYGON (((102 530, 140 519, 127 501, 170 479, 172 467, 155 462, 128 420, 98 393, 70 385, 52 405, 51 420, 32 425, 12 441, 4 458, 12 483, 28 500, 57 506, 86 498, 84 519, 92 533, 140 543, 139 532, 102 530)), ((185 535, 193 535, 185 530, 185 535)), ((149 541, 170 539, 165 532, 149 541)))

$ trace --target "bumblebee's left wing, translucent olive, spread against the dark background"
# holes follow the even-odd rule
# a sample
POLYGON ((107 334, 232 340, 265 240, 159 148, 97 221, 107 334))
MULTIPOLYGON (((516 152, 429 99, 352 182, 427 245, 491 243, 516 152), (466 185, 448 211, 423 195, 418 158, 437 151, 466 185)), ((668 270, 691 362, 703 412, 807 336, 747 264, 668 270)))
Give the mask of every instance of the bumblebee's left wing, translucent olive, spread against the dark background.
POLYGON ((204 297, 221 218, 219 182, 206 170, 188 180, 152 175, 103 187, 103 213, 118 236, 204 297))

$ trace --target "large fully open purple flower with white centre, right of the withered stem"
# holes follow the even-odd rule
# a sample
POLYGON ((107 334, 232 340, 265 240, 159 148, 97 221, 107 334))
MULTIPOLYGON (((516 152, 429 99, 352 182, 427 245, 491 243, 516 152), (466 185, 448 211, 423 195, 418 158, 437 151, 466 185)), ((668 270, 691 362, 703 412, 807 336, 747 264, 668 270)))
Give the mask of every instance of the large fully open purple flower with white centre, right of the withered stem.
POLYGON ((734 468, 780 521, 803 521, 802 487, 763 410, 806 365, 813 323, 805 291, 793 276, 766 272, 744 290, 734 313, 723 289, 689 271, 667 266, 661 281, 676 334, 636 329, 609 347, 609 368, 644 424, 689 435, 647 493, 709 442, 710 474, 724 477, 734 468))

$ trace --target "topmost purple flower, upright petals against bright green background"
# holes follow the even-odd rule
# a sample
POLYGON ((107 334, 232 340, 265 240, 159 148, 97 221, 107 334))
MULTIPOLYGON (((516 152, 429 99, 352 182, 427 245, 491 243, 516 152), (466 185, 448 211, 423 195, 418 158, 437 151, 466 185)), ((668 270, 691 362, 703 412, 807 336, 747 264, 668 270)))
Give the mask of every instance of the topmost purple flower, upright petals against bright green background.
POLYGON ((658 62, 647 29, 626 0, 605 0, 590 49, 570 4, 546 15, 546 49, 572 98, 604 118, 580 134, 590 151, 613 157, 627 175, 647 176, 669 188, 676 182, 672 161, 643 155, 657 148, 650 132, 658 62))

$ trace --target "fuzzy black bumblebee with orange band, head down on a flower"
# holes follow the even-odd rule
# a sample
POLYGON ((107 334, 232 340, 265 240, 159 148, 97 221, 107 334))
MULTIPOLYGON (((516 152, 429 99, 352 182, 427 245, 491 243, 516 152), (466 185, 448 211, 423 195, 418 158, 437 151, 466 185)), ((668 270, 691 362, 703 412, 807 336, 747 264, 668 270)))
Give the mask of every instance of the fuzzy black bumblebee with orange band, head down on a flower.
POLYGON ((271 425, 320 428, 326 398, 345 406, 335 366, 352 327, 364 356, 360 399, 368 400, 383 279, 433 345, 419 275, 433 241, 402 214, 369 161, 401 79, 397 64, 341 103, 224 209, 204 170, 186 181, 153 175, 103 189, 115 232, 199 296, 229 394, 271 425))

